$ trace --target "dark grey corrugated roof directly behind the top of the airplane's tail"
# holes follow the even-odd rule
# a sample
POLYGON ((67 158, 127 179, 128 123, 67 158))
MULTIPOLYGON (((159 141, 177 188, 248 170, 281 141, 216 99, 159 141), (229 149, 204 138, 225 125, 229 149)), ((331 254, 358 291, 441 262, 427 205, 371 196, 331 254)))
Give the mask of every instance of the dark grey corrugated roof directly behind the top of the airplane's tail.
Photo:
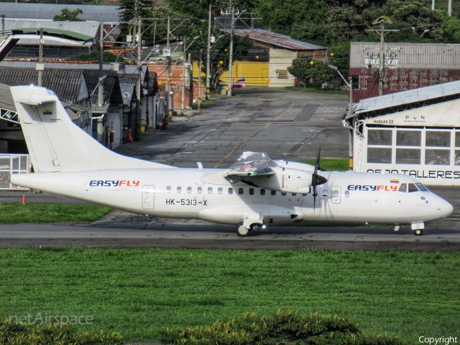
MULTIPOLYGON (((83 72, 78 70, 45 70, 43 71, 43 86, 55 91, 61 100, 76 102, 80 85, 84 81, 83 72)), ((38 83, 38 73, 24 68, 0 67, 0 83, 9 86, 30 85, 38 83)))

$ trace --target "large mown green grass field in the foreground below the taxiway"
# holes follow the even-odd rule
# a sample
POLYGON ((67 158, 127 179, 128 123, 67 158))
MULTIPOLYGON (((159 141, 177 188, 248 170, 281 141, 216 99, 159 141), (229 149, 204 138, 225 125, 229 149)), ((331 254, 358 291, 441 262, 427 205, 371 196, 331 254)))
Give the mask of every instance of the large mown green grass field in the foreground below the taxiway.
POLYGON ((131 341, 280 308, 346 316, 410 343, 460 329, 453 252, 5 249, 0 277, 0 317, 91 315, 78 327, 131 341))

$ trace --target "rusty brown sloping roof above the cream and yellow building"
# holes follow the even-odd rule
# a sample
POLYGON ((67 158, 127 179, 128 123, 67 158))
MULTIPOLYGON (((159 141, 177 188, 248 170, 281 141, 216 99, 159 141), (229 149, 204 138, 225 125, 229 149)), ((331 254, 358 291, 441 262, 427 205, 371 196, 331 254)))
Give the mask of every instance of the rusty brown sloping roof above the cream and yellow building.
MULTIPOLYGON (((230 32, 229 30, 223 30, 230 32)), ((255 41, 274 45, 277 48, 284 48, 294 51, 308 51, 308 50, 327 50, 326 47, 316 45, 308 42, 297 41, 289 36, 282 35, 276 32, 262 30, 262 29, 235 29, 235 35, 249 36, 250 39, 255 41)))

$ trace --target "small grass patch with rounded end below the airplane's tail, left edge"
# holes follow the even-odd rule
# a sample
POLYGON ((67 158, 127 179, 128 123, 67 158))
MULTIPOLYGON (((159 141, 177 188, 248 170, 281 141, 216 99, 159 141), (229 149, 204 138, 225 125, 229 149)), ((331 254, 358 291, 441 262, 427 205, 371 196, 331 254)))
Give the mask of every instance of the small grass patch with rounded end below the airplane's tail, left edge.
POLYGON ((0 223, 93 222, 111 210, 100 205, 0 203, 0 223))

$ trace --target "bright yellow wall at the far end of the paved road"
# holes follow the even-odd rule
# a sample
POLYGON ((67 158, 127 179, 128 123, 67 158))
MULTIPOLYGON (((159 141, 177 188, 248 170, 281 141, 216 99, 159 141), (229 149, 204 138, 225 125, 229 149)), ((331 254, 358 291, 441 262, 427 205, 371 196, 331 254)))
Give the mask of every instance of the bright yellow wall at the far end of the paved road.
MULTIPOLYGON (((203 76, 206 75, 206 69, 202 69, 203 76)), ((254 61, 234 61, 233 63, 233 82, 238 78, 245 77, 246 85, 248 86, 268 86, 266 79, 268 78, 268 62, 254 61)), ((198 77, 198 64, 193 63, 193 77, 198 77)), ((228 82, 228 71, 225 71, 220 76, 223 82, 228 82)))

